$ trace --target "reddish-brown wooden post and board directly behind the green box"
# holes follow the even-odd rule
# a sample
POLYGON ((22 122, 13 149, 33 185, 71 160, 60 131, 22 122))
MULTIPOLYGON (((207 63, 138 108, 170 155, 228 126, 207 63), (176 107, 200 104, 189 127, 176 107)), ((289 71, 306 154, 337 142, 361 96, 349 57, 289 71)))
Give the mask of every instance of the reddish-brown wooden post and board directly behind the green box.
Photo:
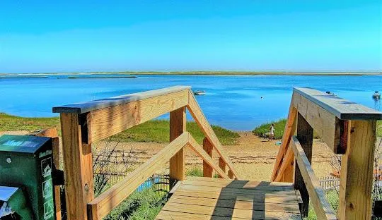
MULTIPOLYGON (((45 130, 35 130, 29 135, 38 137, 50 137, 52 138, 52 157, 54 169, 60 169, 60 147, 59 147, 59 137, 56 128, 48 128, 45 130)), ((56 210, 56 220, 62 219, 61 214, 61 188, 59 185, 54 185, 54 209, 56 210)))

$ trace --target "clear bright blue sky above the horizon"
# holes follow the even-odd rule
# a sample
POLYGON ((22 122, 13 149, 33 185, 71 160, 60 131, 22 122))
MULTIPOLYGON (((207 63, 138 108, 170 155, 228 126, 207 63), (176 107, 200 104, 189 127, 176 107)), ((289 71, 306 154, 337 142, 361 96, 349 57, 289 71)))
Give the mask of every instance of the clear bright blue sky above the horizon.
POLYGON ((382 71, 382 1, 0 1, 0 73, 382 71))

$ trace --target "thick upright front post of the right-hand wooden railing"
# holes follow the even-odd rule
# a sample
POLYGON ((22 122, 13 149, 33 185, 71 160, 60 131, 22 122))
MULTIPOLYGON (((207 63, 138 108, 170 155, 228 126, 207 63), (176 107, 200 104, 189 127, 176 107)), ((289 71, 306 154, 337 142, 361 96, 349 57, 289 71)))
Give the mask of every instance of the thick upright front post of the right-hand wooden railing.
POLYGON ((341 160, 338 219, 371 219, 376 121, 349 121, 341 160))

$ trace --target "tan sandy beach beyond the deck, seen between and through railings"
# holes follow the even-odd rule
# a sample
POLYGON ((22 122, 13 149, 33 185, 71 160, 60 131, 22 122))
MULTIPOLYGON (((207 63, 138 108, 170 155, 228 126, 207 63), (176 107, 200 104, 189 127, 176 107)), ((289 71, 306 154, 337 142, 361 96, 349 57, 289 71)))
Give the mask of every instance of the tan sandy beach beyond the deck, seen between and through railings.
MULTIPOLYGON (((223 147, 241 178, 255 181, 270 180, 275 158, 279 151, 279 146, 276 145, 276 142, 279 140, 269 141, 259 138, 251 132, 241 132, 239 134, 241 137, 238 138, 237 145, 226 145, 223 147)), ((105 145, 106 142, 99 142, 97 149, 104 149, 105 145)), ((144 163, 144 161, 166 146, 166 144, 152 142, 109 143, 109 146, 113 147, 115 145, 117 145, 116 149, 131 152, 136 166, 144 163)), ((202 159, 192 149, 187 149, 186 156, 186 169, 202 168, 202 159)), ((213 156, 217 164, 217 154, 214 152, 213 156)), ((313 169, 318 178, 330 175, 330 171, 332 171, 332 166, 330 165, 332 156, 333 154, 324 142, 320 142, 318 139, 313 140, 313 169)), ((161 170, 158 170, 158 173, 168 173, 167 167, 168 164, 163 166, 161 170)))

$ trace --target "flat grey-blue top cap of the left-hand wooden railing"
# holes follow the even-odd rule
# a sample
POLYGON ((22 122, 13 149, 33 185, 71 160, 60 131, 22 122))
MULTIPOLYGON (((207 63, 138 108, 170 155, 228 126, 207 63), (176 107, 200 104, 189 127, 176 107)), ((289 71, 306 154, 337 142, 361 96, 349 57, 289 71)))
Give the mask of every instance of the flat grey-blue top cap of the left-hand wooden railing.
POLYGON ((126 104, 129 102, 138 101, 141 99, 148 99, 151 97, 156 97, 163 94, 168 94, 172 92, 179 92, 182 90, 190 90, 190 86, 173 86, 166 87, 159 90, 149 90, 146 92, 137 92, 132 94, 125 94, 117 97, 110 97, 107 99, 98 99, 91 102, 81 102, 76 104, 67 104, 64 106, 53 107, 52 111, 54 113, 74 113, 81 114, 89 111, 94 111, 97 109, 108 108, 111 106, 117 106, 120 104, 126 104))

